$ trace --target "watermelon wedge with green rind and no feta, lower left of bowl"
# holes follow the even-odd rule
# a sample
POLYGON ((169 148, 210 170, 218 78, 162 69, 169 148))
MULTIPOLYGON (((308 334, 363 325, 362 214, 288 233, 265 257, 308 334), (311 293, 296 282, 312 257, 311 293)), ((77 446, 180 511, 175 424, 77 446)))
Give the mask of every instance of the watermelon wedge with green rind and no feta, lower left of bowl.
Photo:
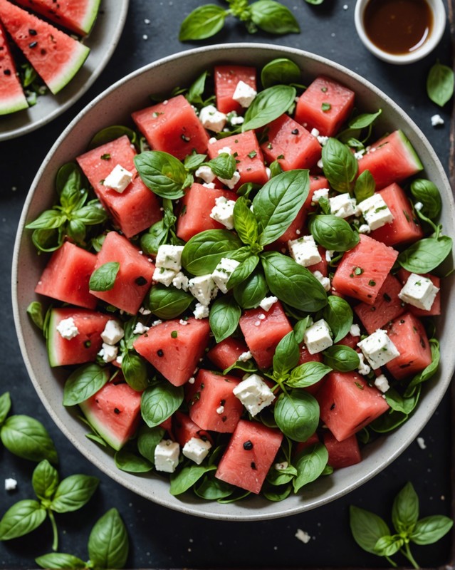
POLYGON ((79 405, 103 440, 115 450, 120 450, 137 430, 140 399, 141 393, 129 385, 108 382, 79 405))

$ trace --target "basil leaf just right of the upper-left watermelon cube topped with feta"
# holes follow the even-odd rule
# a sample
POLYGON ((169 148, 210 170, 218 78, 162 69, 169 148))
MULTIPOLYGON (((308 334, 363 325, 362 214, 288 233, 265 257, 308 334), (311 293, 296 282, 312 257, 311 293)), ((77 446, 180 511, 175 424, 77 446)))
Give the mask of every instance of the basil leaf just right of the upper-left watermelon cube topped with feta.
POLYGON ((136 155, 134 160, 142 182, 157 196, 169 199, 184 197, 189 180, 187 169, 178 158, 162 150, 147 150, 136 155))

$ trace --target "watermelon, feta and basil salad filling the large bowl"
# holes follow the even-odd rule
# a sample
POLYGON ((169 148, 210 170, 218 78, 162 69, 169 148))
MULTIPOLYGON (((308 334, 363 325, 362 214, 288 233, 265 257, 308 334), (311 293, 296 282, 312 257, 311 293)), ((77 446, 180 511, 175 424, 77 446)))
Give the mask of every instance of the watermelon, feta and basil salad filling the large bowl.
POLYGON ((226 64, 152 97, 62 165, 27 226, 63 405, 175 495, 305 492, 406 421, 438 368, 439 191, 380 109, 301 77, 226 64))

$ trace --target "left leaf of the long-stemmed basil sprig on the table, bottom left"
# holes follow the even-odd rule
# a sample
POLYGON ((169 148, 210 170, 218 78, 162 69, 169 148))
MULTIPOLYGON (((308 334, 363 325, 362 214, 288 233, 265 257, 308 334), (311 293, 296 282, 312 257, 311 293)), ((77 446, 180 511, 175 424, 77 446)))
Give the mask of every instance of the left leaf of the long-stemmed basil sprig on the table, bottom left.
POLYGON ((14 503, 0 520, 0 540, 23 537, 37 529, 46 519, 46 509, 38 501, 23 499, 14 503))

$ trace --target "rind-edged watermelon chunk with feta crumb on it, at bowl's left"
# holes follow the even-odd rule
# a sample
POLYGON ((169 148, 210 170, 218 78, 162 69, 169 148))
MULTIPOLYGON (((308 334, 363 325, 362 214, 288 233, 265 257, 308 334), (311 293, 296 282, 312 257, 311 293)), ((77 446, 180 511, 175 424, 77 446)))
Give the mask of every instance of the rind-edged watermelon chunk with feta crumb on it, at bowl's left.
POLYGON ((110 316, 97 311, 83 309, 52 309, 48 323, 48 356, 51 366, 67 366, 94 361, 103 345, 101 333, 110 316), (58 324, 66 318, 73 318, 79 334, 63 338, 57 330, 58 324))

